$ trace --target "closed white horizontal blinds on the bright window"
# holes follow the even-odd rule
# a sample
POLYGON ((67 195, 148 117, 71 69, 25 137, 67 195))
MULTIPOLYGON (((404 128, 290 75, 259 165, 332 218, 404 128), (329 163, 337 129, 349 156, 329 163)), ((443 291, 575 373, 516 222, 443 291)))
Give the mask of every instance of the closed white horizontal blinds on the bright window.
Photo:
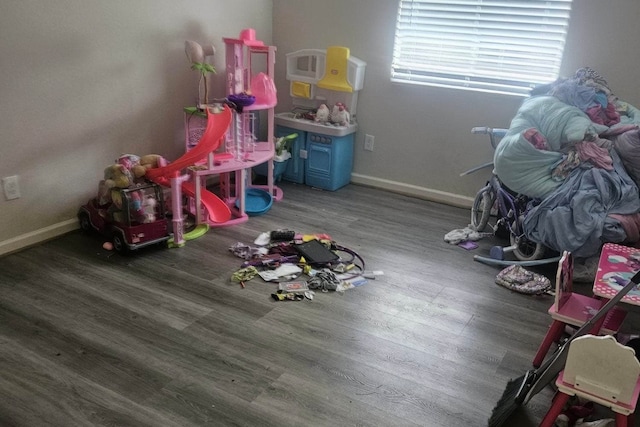
POLYGON ((558 78, 571 0, 400 0, 393 81, 527 95, 558 78))

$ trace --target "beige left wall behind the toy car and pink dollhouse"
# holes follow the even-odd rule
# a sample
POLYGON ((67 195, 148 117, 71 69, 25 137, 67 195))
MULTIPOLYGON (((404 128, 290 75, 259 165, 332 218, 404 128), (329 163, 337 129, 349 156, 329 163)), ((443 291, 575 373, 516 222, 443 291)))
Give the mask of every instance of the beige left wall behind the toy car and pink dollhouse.
MULTIPOLYGON (((184 41, 252 27, 271 43, 271 0, 22 0, 0 13, 0 254, 77 228, 76 212, 123 153, 176 158, 198 76, 184 41), (0 192, 1 194, 1 192, 0 192)), ((224 96, 223 74, 212 83, 224 96)))

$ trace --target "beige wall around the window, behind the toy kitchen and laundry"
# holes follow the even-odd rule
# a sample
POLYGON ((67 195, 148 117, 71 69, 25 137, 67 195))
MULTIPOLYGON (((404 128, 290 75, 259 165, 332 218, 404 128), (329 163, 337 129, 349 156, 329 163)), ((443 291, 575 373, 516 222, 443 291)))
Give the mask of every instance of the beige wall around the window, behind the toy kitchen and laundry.
MULTIPOLYGON (((288 94, 286 53, 349 47, 353 56, 367 62, 358 98, 354 181, 453 204, 469 203, 487 173, 467 177, 459 173, 490 161, 493 154, 488 140, 471 136, 471 128, 508 127, 522 98, 391 83, 397 1, 273 3, 278 111, 291 106, 284 95, 288 94), (363 150, 365 133, 375 136, 374 152, 363 150)), ((562 74, 591 66, 608 79, 614 92, 640 105, 638 16, 637 0, 574 0, 562 74)))

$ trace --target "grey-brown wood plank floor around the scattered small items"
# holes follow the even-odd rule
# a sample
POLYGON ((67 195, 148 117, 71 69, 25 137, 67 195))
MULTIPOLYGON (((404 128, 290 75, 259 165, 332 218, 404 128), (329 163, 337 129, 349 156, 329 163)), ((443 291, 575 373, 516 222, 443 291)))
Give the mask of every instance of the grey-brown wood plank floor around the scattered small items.
MULTIPOLYGON (((180 249, 124 257, 73 232, 0 258, 1 426, 483 426, 530 368, 550 296, 494 283, 443 236, 467 210, 349 185, 180 249), (230 281, 228 248, 328 233, 384 276, 313 301, 230 281)), ((589 285, 584 285, 589 291, 589 285)), ((552 392, 513 426, 537 425, 552 392)))

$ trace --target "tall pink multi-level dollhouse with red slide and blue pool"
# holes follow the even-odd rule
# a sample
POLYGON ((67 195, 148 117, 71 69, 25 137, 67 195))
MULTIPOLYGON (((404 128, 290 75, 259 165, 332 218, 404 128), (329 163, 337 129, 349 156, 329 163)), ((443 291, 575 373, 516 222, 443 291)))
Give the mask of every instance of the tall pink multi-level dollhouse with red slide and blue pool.
POLYGON ((151 169, 146 174, 154 182, 171 186, 174 212, 182 212, 183 196, 190 199, 187 209, 195 216, 198 226, 183 235, 182 217, 174 215, 175 245, 201 235, 209 226, 244 222, 250 214, 262 214, 271 207, 273 200, 282 198, 272 176, 267 185, 256 186, 252 185, 250 174, 251 168, 260 164, 267 165, 270 175, 273 172, 273 107, 277 98, 272 76, 276 48, 256 40, 252 29, 243 30, 237 39, 223 40, 227 81, 224 102, 207 105, 204 112, 185 109, 186 153, 167 166, 151 169), (256 64, 265 66, 265 70, 257 71, 256 64), (260 111, 266 111, 265 141, 256 136, 255 122, 260 111), (198 135, 198 125, 205 123, 202 136, 194 137, 198 135), (181 175, 185 169, 188 172, 181 175), (219 180, 219 195, 206 187, 207 178, 214 175, 219 180))

